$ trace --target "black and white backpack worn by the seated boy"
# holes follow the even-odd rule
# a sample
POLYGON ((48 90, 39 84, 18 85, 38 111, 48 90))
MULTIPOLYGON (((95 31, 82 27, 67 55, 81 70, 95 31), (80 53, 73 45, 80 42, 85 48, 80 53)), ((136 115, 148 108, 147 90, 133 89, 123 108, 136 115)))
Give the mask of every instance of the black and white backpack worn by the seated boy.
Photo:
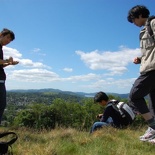
POLYGON ((123 125, 131 124, 135 119, 135 114, 127 103, 119 102, 118 100, 110 100, 108 106, 109 105, 112 105, 112 107, 120 113, 123 125))

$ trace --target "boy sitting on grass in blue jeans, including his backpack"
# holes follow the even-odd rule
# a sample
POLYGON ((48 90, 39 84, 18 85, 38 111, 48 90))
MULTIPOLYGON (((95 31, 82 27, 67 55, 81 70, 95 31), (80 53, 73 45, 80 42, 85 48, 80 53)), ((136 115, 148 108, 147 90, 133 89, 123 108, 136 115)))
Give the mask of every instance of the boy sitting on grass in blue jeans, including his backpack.
POLYGON ((115 128, 123 128, 131 124, 135 118, 132 109, 124 102, 117 100, 109 100, 104 92, 98 92, 94 97, 94 102, 105 106, 103 114, 99 114, 99 122, 95 122, 90 133, 104 126, 112 126, 115 128))

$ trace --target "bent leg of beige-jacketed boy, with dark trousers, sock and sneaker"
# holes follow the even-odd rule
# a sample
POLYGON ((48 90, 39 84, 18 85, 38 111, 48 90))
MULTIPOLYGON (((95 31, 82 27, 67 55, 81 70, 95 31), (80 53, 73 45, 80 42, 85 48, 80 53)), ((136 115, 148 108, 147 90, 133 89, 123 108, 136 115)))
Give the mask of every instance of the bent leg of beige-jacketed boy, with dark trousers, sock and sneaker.
MULTIPOLYGON (((148 130, 140 137, 140 140, 149 140, 155 137, 155 120, 153 115, 148 109, 144 97, 155 90, 155 71, 141 75, 134 83, 129 98, 138 111, 142 114, 145 121, 148 123, 148 130), (141 139, 142 138, 142 139, 141 139)), ((153 101, 153 100, 152 100, 153 101)), ((152 102, 154 106, 155 103, 152 102)))

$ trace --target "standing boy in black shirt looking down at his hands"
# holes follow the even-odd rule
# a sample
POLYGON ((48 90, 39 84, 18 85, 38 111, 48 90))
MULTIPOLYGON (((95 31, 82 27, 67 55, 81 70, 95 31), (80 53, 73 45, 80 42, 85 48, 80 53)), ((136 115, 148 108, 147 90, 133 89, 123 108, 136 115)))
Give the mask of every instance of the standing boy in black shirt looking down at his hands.
POLYGON ((12 31, 8 29, 3 29, 0 32, 0 124, 4 113, 4 109, 6 107, 6 88, 5 88, 6 75, 4 67, 18 64, 18 61, 14 61, 12 57, 9 57, 9 59, 6 60, 3 59, 2 47, 9 44, 14 39, 15 35, 12 31))

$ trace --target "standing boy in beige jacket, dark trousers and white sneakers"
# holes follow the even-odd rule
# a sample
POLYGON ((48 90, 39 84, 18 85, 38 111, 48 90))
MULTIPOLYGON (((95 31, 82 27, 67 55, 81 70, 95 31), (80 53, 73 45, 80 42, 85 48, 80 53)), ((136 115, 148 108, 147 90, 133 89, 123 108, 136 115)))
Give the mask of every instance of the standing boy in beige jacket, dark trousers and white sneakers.
POLYGON ((140 64, 140 76, 133 84, 129 99, 148 123, 148 129, 143 136, 140 136, 140 140, 155 143, 155 118, 144 99, 149 95, 150 103, 155 107, 155 19, 149 15, 150 11, 142 5, 134 6, 128 12, 128 21, 143 27, 140 31, 141 57, 133 60, 135 64, 140 64), (149 33, 148 24, 152 35, 149 33))

